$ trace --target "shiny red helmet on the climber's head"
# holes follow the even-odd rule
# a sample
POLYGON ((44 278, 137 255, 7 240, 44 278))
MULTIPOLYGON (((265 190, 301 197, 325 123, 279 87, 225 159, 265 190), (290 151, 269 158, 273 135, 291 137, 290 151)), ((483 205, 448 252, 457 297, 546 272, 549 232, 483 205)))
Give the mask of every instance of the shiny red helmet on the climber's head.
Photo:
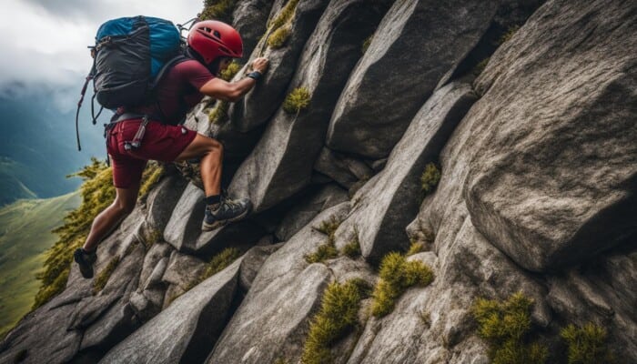
POLYGON ((202 56, 207 64, 220 56, 243 56, 241 35, 232 26, 217 20, 204 20, 193 25, 188 33, 188 45, 202 56))

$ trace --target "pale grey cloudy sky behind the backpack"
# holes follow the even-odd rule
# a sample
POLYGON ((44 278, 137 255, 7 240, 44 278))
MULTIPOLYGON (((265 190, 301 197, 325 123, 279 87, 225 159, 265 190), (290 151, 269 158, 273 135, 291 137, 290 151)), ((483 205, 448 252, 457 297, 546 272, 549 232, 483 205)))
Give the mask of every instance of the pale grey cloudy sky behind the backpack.
POLYGON ((134 15, 184 23, 202 7, 203 0, 2 0, 0 92, 44 89, 60 108, 75 107, 91 67, 86 45, 100 24, 134 15))

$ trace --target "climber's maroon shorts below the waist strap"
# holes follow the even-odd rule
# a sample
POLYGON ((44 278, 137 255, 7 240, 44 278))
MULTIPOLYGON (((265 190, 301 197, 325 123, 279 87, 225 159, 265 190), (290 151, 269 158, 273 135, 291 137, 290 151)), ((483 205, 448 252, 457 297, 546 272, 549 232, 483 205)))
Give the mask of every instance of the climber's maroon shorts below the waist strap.
POLYGON ((197 132, 185 126, 151 121, 146 126, 141 147, 126 150, 124 143, 133 140, 141 122, 141 119, 120 121, 106 136, 106 150, 113 166, 113 184, 117 188, 137 185, 149 159, 174 161, 197 136, 197 132))

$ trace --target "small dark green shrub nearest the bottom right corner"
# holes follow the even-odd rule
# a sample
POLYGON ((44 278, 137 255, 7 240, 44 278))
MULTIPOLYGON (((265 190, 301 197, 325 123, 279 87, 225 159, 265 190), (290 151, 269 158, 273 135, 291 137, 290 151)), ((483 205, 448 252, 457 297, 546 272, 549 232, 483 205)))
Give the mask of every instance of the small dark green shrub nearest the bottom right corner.
POLYGON ((614 362, 606 342, 606 329, 587 323, 582 328, 569 325, 560 336, 569 347, 569 364, 610 364, 614 362))

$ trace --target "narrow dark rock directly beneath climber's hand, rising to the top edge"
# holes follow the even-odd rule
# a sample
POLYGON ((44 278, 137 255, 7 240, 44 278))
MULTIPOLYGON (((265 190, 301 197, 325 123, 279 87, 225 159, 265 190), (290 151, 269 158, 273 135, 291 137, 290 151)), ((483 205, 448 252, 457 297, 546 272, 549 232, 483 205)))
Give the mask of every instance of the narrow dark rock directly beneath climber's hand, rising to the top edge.
MULTIPOLYGON (((294 75, 294 70, 297 68, 298 56, 303 45, 317 25, 319 17, 328 3, 328 0, 299 2, 293 15, 287 45, 280 49, 265 47, 263 56, 268 57, 269 60, 268 72, 248 95, 244 96, 238 103, 232 104, 228 110, 233 127, 237 128, 238 131, 247 132, 264 124, 277 111, 285 97, 285 91, 294 75)), ((261 56, 259 51, 264 48, 263 43, 266 41, 267 39, 264 38, 258 43, 250 60, 261 56)), ((244 71, 240 72, 239 75, 244 71)))

